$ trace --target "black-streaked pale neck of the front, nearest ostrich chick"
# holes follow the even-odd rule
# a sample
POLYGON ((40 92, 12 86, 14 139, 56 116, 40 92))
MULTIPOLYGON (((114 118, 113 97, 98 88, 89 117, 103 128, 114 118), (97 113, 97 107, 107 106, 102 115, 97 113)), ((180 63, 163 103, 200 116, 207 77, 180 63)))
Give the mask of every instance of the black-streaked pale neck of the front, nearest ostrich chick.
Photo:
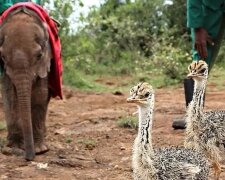
MULTIPOLYGON (((149 172, 150 179, 157 179, 156 157, 152 147, 152 120, 154 109, 154 94, 148 99, 148 104, 138 106, 139 129, 134 142, 132 166, 134 172, 146 179, 143 172, 149 172)), ((136 178, 138 179, 138 178, 136 178)))

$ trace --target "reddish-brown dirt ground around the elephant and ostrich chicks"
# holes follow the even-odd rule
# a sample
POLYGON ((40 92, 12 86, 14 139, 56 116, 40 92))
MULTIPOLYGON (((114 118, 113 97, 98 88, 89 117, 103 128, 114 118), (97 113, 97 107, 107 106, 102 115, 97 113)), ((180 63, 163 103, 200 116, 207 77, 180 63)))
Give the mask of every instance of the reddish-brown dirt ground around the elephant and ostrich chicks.
MULTIPOLYGON (((127 92, 90 93, 64 88, 64 100, 52 99, 47 118, 50 151, 26 162, 0 153, 0 179, 130 180, 131 148, 137 130, 117 121, 136 111, 127 92)), ((209 85, 206 109, 225 108, 225 89, 209 85)), ((185 111, 183 89, 156 89, 154 147, 182 145, 184 131, 173 130, 172 119, 185 111)), ((4 121, 0 99, 0 121, 4 121)), ((6 130, 0 130, 0 140, 6 130)), ((225 179, 225 172, 221 179, 225 179)))

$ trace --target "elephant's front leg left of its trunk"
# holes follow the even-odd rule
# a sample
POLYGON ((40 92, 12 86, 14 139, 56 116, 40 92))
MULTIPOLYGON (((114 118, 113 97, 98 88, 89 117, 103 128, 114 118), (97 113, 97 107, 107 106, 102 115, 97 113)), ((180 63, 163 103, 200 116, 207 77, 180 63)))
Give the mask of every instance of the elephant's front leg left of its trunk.
POLYGON ((16 90, 10 78, 4 73, 2 77, 2 99, 7 124, 7 146, 23 148, 23 133, 21 129, 16 90))

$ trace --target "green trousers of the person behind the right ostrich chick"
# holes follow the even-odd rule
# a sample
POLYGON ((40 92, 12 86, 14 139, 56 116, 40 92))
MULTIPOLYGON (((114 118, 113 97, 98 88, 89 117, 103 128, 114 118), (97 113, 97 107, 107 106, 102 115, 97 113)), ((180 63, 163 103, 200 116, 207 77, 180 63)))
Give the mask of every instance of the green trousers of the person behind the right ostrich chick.
MULTIPOLYGON (((214 19, 211 18, 210 23, 208 22, 204 27, 206 31, 209 33, 209 35, 212 37, 213 42, 215 43, 214 46, 207 44, 208 57, 204 60, 209 65, 209 71, 211 70, 217 58, 225 30, 225 13, 223 13, 222 15, 217 14, 214 15, 213 17, 214 19)), ((192 43, 193 60, 200 60, 198 52, 194 48, 195 42, 194 29, 191 29, 191 37, 193 42, 192 43)))

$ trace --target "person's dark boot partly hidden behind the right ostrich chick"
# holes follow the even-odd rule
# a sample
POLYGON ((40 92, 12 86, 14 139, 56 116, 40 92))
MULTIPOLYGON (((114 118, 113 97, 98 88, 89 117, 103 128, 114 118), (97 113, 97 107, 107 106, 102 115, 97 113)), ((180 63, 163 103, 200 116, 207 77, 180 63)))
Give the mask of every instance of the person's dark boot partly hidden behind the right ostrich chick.
MULTIPOLYGON (((193 79, 184 79, 184 94, 185 94, 186 108, 188 104, 192 101, 193 92, 194 92, 193 79)), ((185 122, 184 116, 174 119, 172 127, 174 129, 185 129, 186 122, 185 122)))

